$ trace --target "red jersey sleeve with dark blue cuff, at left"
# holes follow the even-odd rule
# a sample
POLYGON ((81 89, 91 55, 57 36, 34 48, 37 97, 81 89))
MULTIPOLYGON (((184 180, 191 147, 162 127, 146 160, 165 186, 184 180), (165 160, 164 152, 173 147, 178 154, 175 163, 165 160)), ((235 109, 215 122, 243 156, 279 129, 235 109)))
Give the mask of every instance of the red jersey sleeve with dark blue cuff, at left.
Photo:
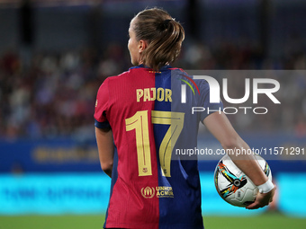
POLYGON ((110 128, 110 123, 107 120, 107 112, 109 110, 109 88, 108 78, 101 84, 95 101, 94 109, 94 126, 96 128, 110 128))

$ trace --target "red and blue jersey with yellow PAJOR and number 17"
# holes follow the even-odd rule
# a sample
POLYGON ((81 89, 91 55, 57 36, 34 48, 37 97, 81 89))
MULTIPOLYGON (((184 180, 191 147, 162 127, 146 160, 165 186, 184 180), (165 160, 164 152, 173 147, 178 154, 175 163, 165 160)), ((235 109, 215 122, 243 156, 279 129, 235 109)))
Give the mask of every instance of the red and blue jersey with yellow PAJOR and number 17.
POLYGON ((203 228, 197 160, 175 149, 193 149, 199 122, 218 110, 209 84, 183 70, 144 66, 108 77, 95 104, 95 127, 112 128, 116 152, 105 228, 203 228), (181 85, 187 87, 181 102, 181 85), (188 158, 190 159, 190 158, 188 158))

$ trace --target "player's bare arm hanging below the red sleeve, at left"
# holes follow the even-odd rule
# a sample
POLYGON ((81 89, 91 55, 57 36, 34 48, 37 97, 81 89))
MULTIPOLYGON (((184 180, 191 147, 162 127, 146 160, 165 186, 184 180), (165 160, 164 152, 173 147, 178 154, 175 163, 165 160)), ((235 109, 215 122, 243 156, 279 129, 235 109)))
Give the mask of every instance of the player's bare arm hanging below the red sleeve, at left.
POLYGON ((112 178, 114 146, 111 128, 95 128, 96 143, 103 172, 112 178))

